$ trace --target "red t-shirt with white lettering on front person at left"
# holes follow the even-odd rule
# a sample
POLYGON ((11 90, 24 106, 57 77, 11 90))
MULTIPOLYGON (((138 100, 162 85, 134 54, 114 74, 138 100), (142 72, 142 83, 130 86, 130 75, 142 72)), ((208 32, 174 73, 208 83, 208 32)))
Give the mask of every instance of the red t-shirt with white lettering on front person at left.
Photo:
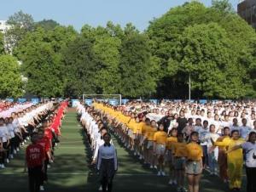
POLYGON ((27 167, 38 167, 43 165, 45 159, 44 148, 40 144, 30 144, 26 148, 27 167))

